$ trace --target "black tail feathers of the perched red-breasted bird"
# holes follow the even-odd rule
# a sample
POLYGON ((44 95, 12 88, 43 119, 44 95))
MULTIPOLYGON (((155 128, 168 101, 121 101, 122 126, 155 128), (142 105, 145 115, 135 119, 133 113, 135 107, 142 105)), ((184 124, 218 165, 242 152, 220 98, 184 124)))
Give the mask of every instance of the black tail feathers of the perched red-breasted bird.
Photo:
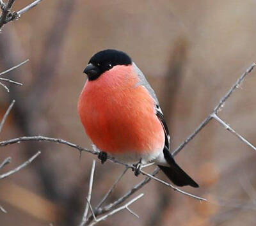
POLYGON ((164 174, 168 176, 174 185, 190 185, 194 188, 199 187, 199 185, 179 167, 179 165, 173 159, 172 154, 170 154, 168 150, 164 150, 164 158, 170 164, 170 167, 164 167, 162 165, 158 165, 158 167, 163 170, 164 174))

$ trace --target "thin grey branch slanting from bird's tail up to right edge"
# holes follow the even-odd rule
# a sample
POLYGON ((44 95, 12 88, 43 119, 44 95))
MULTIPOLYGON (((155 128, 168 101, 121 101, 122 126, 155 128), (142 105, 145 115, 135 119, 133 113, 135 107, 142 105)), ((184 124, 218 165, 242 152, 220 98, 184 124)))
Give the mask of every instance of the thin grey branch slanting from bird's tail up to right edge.
POLYGON ((183 147, 185 147, 186 144, 188 144, 188 142, 190 140, 192 140, 196 136, 196 134, 199 133, 200 130, 202 130, 202 128, 204 128, 204 126, 206 126, 207 123, 209 123, 209 121, 211 121, 212 114, 214 114, 214 113, 216 114, 221 109, 221 107, 223 107, 226 100, 230 97, 230 95, 234 92, 234 90, 237 89, 237 87, 239 87, 239 85, 241 84, 241 82, 243 82, 246 75, 248 75, 250 72, 252 72, 255 65, 256 64, 253 63, 249 68, 247 68, 246 72, 244 72, 243 75, 241 75, 241 77, 236 81, 234 86, 232 86, 231 89, 220 100, 220 103, 214 108, 213 112, 211 112, 211 114, 209 114, 209 116, 206 117, 206 119, 198 126, 198 128, 196 128, 195 132, 193 132, 184 142, 182 142, 182 144, 180 144, 179 147, 177 147, 177 149, 175 149, 173 151, 173 153, 172 153, 173 156, 178 154, 183 149, 183 147))

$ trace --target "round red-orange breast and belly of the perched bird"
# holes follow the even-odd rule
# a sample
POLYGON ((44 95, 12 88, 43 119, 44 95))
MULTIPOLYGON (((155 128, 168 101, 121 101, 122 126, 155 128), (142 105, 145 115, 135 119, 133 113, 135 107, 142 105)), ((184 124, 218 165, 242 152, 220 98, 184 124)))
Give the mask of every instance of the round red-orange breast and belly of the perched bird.
POLYGON ((102 151, 116 155, 163 149, 156 102, 132 64, 116 65, 97 80, 86 81, 78 109, 86 133, 102 151))

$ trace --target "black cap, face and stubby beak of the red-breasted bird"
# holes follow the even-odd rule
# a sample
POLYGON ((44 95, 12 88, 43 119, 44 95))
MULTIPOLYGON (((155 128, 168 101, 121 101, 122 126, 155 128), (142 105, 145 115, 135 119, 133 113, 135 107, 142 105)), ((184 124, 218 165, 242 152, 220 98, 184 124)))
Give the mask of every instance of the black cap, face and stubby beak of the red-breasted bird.
POLYGON ((125 52, 115 49, 106 49, 93 55, 84 69, 84 73, 88 75, 88 80, 95 80, 99 78, 102 73, 113 68, 113 66, 129 65, 131 63, 131 57, 125 54, 125 52))

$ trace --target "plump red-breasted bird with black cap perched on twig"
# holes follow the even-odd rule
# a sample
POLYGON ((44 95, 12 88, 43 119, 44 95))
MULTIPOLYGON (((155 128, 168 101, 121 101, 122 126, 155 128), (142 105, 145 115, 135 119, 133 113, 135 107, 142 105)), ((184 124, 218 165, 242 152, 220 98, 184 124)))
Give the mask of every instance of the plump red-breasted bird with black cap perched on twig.
POLYGON ((145 75, 125 52, 106 49, 92 56, 83 71, 87 80, 77 109, 84 130, 100 150, 125 163, 155 163, 177 186, 198 184, 170 153, 170 133, 156 93, 145 75))

